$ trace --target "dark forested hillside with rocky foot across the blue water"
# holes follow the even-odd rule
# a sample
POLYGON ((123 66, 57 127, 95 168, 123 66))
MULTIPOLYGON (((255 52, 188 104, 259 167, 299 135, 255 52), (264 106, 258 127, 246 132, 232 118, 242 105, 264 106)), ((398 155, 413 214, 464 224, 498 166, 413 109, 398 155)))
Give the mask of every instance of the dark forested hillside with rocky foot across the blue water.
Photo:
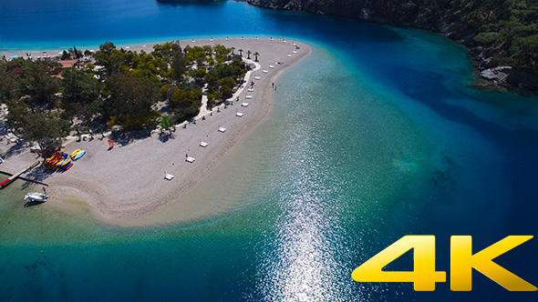
POLYGON ((247 0, 251 5, 353 17, 440 32, 471 48, 481 76, 538 92, 536 0, 247 0), (510 67, 499 67, 510 66, 510 67))

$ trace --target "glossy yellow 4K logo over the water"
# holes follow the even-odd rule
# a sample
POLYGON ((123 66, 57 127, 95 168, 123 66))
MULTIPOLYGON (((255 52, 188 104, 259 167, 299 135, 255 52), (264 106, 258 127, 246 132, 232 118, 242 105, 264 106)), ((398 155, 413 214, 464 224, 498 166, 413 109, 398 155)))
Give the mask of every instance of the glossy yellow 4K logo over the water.
MULTIPOLYGON (((517 277, 492 259, 533 238, 509 236, 472 255, 471 236, 450 237, 450 289, 470 291, 472 268, 511 291, 535 291, 530 283, 517 277)), ((433 291, 436 282, 446 282, 446 272, 435 271, 435 236, 405 236, 357 267, 351 277, 357 282, 413 282, 417 291, 433 291), (413 248, 413 271, 383 271, 394 259, 413 248)))

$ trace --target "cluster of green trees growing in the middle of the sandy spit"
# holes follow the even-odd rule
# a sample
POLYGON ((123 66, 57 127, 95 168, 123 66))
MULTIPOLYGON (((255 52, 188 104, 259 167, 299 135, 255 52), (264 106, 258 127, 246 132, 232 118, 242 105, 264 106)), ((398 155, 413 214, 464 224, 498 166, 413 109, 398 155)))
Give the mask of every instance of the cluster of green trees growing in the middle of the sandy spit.
POLYGON ((52 59, 0 59, 0 105, 20 138, 53 153, 68 134, 169 130, 197 116, 202 95, 212 107, 233 95, 248 66, 222 45, 154 45, 150 53, 107 42, 95 53, 77 48, 52 59), (61 62, 61 61, 60 61, 61 62))

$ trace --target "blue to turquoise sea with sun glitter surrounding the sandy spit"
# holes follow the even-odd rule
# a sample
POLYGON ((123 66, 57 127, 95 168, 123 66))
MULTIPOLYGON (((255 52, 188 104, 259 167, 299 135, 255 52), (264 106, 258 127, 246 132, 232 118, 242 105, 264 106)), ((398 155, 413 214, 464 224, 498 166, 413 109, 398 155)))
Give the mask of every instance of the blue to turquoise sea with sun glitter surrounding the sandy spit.
MULTIPOLYGON (((269 118, 208 177, 242 184, 241 194, 207 190, 240 206, 190 224, 109 227, 84 206, 24 208, 27 189, 9 186, 0 191, 1 301, 538 298, 477 271, 471 292, 450 291, 450 236, 471 235, 476 252, 538 235, 538 97, 472 88, 462 46, 230 1, 0 2, 0 52, 240 35, 313 48, 278 78, 269 118), (406 235, 437 237, 448 282, 415 292, 351 279, 406 235)), ((533 238, 496 261, 538 286, 536 255, 533 238)), ((411 270, 412 257, 388 269, 411 270)))

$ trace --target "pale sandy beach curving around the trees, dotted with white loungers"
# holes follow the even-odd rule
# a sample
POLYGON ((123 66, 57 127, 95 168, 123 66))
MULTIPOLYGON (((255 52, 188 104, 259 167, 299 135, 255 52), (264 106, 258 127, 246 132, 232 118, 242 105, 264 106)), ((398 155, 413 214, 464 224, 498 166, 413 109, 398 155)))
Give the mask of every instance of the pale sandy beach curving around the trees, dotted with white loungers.
MULTIPOLYGON (((85 149, 87 154, 66 173, 54 173, 44 180, 49 185, 47 194, 51 196, 47 206, 62 208, 69 206, 69 200, 84 201, 91 216, 122 226, 133 225, 129 220, 151 216, 151 213, 166 205, 181 207, 181 196, 198 186, 243 136, 264 121, 272 106, 274 79, 286 67, 294 65, 310 52, 305 44, 282 39, 234 37, 181 41, 181 47, 217 44, 235 47, 235 52, 243 49, 243 57, 246 57, 247 50, 260 53, 256 68, 245 76, 246 83, 255 83, 253 92, 247 91, 250 86, 242 86, 231 98, 233 106, 224 108, 222 105, 220 112, 217 112, 217 108, 213 108, 212 112, 202 112, 197 116, 196 124, 178 126, 166 142, 160 140, 157 131, 150 137, 132 140, 112 150, 108 150, 108 137, 100 139, 100 135, 96 135, 92 141, 67 140, 65 152, 80 148, 85 149), (277 64, 279 61, 283 64, 277 64), (239 102, 236 102, 237 97, 239 102), (242 106, 243 102, 248 106, 242 106), (237 113, 243 116, 239 117, 237 113), (205 119, 202 119, 202 115, 205 119), (224 127, 225 132, 219 132, 219 127, 224 127), (202 141, 208 146, 200 146, 202 141), (187 162, 187 155, 194 157, 194 162, 187 162), (165 173, 174 178, 165 180, 165 173)), ((150 52, 152 45, 129 45, 129 50, 142 49, 150 52)), ((251 57, 253 59, 253 55, 251 57)), ((0 153, 5 153, 13 146, 6 145, 5 140, 0 145, 0 153)), ((14 173, 35 160, 36 154, 30 153, 29 148, 22 149, 6 156, 0 169, 14 173)), ((208 202, 218 203, 218 200, 208 202)), ((189 206, 185 205, 174 220, 189 221, 205 214, 200 208, 195 212, 190 212, 189 206)), ((150 223, 147 219, 142 220, 144 224, 150 223)))

